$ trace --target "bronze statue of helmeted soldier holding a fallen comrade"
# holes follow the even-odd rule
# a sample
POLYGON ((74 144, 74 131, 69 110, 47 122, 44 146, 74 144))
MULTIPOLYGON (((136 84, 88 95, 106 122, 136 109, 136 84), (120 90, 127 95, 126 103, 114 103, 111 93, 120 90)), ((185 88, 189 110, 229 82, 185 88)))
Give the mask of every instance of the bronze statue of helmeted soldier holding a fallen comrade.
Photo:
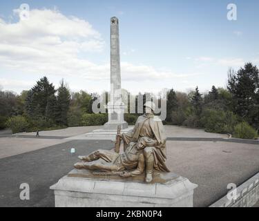
POLYGON ((120 172, 121 177, 131 177, 146 172, 145 181, 153 180, 153 171, 169 172, 166 167, 166 140, 162 120, 154 115, 155 104, 146 102, 145 113, 137 118, 133 130, 119 135, 124 141, 123 153, 98 150, 79 156, 76 169, 120 172))

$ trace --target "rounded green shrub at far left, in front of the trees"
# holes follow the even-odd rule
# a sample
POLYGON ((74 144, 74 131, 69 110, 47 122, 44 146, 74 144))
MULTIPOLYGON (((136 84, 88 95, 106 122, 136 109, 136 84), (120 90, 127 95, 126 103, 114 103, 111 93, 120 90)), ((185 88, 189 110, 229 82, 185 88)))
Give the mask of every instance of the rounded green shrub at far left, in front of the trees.
POLYGON ((11 128, 12 133, 20 133, 26 131, 26 128, 28 127, 28 122, 26 120, 26 117, 13 116, 8 118, 6 126, 11 128))

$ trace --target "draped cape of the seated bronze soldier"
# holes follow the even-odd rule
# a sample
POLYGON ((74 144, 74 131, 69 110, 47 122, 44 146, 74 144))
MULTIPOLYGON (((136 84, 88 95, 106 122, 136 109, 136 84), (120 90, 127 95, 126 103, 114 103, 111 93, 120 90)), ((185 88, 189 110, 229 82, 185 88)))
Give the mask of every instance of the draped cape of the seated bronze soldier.
POLYGON ((138 148, 153 146, 154 169, 169 172, 166 167, 166 138, 162 121, 154 115, 144 114, 138 117, 132 131, 123 133, 122 137, 126 145, 137 145, 138 148))

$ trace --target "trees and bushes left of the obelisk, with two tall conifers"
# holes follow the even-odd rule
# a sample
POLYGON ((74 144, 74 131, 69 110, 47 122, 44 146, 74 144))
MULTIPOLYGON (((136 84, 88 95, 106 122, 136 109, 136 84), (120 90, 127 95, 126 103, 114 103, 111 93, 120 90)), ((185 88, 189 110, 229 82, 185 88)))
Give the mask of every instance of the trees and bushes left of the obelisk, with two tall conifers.
POLYGON ((0 90, 0 129, 8 126, 18 133, 81 126, 82 117, 93 113, 95 99, 83 90, 71 93, 64 79, 56 90, 47 77, 20 95, 0 90))

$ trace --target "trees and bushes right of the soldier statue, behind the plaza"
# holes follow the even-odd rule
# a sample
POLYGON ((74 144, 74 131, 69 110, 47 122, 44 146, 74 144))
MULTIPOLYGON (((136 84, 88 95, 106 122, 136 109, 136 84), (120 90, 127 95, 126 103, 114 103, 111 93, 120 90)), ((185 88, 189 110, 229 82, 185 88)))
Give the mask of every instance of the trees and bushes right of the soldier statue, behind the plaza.
POLYGON ((240 138, 256 138, 259 130, 258 68, 247 63, 237 72, 229 70, 227 88, 212 86, 202 95, 169 90, 166 123, 208 132, 229 133, 240 138))

